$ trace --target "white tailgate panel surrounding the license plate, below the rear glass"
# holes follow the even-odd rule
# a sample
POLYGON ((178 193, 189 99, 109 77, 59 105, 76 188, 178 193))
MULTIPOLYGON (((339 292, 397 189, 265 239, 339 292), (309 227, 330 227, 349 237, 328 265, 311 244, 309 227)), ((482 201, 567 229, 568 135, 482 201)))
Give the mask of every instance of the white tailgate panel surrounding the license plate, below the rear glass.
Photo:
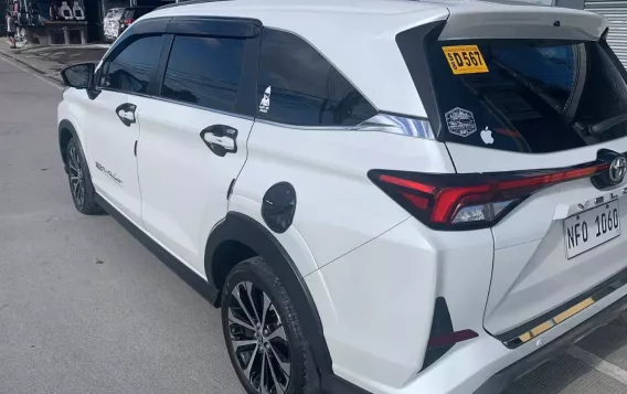
MULTIPOLYGON (((516 153, 447 143, 459 172, 496 172, 559 169, 593 162, 599 149, 627 151, 627 138, 554 153, 516 153), (477 160, 480 157, 481 160, 477 160)), ((495 270, 486 307, 486 329, 507 332, 592 289, 626 267, 627 238, 619 236, 575 258, 567 259, 564 219, 583 211, 578 204, 612 192, 623 196, 625 182, 607 191, 588 179, 539 191, 492 227, 495 270), (529 213, 533 212, 532 215, 529 213)), ((627 200, 620 198, 625 222, 627 200)))

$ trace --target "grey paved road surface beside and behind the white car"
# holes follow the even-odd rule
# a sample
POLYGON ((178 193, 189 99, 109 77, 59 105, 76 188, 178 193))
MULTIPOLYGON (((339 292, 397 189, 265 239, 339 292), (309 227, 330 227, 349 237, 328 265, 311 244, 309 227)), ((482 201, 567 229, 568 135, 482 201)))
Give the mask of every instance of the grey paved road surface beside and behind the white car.
MULTIPOLYGON (((109 216, 72 205, 57 86, 0 55, 0 394, 241 394, 220 316, 109 216)), ((613 323, 508 394, 627 392, 613 323)))

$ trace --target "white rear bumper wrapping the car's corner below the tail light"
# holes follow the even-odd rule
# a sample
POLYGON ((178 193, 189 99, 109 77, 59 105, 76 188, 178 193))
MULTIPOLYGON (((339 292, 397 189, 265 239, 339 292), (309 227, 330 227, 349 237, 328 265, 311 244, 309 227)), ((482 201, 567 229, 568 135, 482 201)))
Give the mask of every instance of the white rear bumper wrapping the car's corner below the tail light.
POLYGON ((323 384, 323 392, 496 394, 627 308, 627 286, 614 285, 623 276, 615 277, 603 285, 613 291, 509 349, 483 328, 492 271, 487 251, 492 249, 489 233, 428 233, 407 220, 308 275, 333 373, 339 383, 354 385, 323 384), (479 337, 422 369, 434 315, 429 307, 437 297, 446 298, 456 330, 471 329, 479 337))

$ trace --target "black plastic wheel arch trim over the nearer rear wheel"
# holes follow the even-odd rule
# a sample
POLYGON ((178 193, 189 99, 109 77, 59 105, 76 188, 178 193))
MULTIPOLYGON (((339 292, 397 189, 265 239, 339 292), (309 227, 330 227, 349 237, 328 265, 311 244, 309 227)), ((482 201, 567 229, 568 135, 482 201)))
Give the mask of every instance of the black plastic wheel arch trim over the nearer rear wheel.
POLYGON ((276 237, 257 221, 238 212, 230 212, 206 243, 205 275, 210 292, 215 295, 212 300, 214 306, 221 304, 222 288, 231 268, 257 255, 264 257, 289 295, 325 386, 325 377, 333 376, 331 356, 320 316, 305 279, 276 237), (241 257, 244 258, 240 259, 241 257))

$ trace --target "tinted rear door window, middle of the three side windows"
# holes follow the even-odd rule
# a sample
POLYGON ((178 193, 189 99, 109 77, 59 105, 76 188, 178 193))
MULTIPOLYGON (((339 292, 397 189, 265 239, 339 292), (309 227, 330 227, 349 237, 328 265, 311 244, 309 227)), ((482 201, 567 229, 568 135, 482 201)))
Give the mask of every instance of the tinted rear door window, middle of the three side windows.
POLYGON ((245 41, 177 36, 161 96, 211 109, 233 111, 245 41))

